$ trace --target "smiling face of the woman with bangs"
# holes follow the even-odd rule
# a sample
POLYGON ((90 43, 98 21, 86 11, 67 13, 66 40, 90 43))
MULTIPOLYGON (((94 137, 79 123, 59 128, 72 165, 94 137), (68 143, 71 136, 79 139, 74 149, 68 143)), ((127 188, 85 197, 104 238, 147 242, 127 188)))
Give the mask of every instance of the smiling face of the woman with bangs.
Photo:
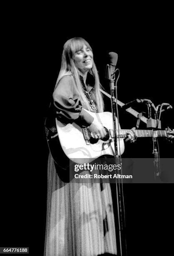
POLYGON ((85 73, 93 66, 93 53, 85 44, 83 47, 75 52, 74 55, 75 66, 82 72, 85 73))

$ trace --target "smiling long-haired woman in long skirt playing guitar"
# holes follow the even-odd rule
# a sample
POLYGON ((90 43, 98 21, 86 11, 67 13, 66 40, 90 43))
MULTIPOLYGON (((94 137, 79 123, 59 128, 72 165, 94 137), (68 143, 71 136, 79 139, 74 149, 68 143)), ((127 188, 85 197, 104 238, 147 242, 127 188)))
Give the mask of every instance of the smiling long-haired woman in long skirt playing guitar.
MULTIPOLYGON (((51 109, 62 123, 89 127, 93 138, 106 135, 104 127, 85 109, 103 112, 99 76, 92 49, 83 38, 64 45, 62 65, 51 109)), ((56 131, 47 121, 47 135, 56 131)), ((48 135, 49 136, 49 135, 48 135)), ((133 140, 134 134, 129 138, 133 140)), ((59 173, 65 169, 60 169, 59 173)), ((117 254, 112 195, 109 184, 63 182, 50 154, 48 161, 45 255, 117 254)))

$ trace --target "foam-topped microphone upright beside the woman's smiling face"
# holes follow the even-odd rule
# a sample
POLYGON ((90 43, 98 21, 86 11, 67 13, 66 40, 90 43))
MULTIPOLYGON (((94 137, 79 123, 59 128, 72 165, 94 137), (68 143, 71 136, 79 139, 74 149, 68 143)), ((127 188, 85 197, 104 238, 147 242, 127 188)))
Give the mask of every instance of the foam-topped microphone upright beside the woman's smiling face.
POLYGON ((105 78, 107 79, 115 79, 114 73, 115 73, 115 68, 117 65, 117 60, 118 60, 118 54, 116 52, 109 52, 108 54, 108 62, 106 66, 106 72, 105 72, 105 78))

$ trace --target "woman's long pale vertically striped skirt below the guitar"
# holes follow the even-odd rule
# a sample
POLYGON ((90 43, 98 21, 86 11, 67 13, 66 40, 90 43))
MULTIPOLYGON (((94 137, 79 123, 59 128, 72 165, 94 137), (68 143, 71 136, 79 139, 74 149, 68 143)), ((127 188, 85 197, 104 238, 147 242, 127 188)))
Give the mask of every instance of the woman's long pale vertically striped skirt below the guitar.
POLYGON ((45 255, 117 254, 110 184, 64 183, 48 159, 45 255))

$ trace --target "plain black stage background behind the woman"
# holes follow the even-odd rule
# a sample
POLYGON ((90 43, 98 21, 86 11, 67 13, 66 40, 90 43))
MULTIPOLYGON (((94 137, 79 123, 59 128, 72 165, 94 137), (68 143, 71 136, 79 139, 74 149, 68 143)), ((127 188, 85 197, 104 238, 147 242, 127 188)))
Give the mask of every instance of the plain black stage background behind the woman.
MULTIPOLYGON (((42 14, 43 15, 43 14, 42 14)), ((124 24, 87 23, 79 20, 65 25, 64 20, 47 18, 30 24, 10 23, 11 61, 7 73, 7 89, 2 115, 1 239, 0 246, 27 246, 31 254, 43 254, 47 197, 48 148, 44 121, 61 63, 63 44, 74 36, 84 37, 92 46, 100 81, 109 92, 104 79, 107 53, 118 54, 120 69, 118 99, 127 103, 147 98, 158 105, 173 100, 173 38, 170 20, 163 23, 159 15, 153 23, 144 19, 124 24), (138 26, 139 25, 139 26, 138 26), (3 111, 4 112, 4 111, 3 111), (10 121, 10 122, 9 122, 10 121), (7 123, 9 123, 7 125, 7 123)), ((141 15, 140 15, 141 16, 141 15)), ((145 17, 145 16, 144 16, 145 17)), ((76 17, 77 18, 77 17, 76 17)), ((72 21, 72 19, 71 19, 72 21)), ((106 110, 110 101, 104 97, 106 110)), ((145 105, 134 107, 147 112, 145 105)), ((162 129, 174 128, 173 110, 162 113, 162 129)), ((147 114, 146 114, 147 116, 147 114)), ((122 128, 132 128, 134 118, 119 108, 122 128)), ((139 128, 146 128, 141 122, 139 128)), ((173 145, 159 138, 160 156, 173 157, 173 145)), ((125 145, 125 157, 152 157, 152 140, 137 139, 125 145)), ((174 254, 173 184, 125 184, 128 255, 174 254)))

